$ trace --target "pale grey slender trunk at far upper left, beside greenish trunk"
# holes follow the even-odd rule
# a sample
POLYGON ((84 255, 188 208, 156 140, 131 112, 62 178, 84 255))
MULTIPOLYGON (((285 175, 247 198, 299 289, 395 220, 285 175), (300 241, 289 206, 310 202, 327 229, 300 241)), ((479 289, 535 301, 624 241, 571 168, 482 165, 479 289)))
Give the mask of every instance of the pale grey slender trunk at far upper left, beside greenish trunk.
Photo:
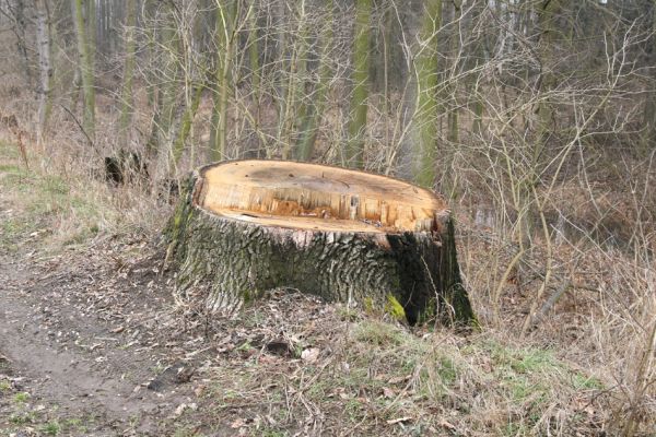
POLYGON ((50 33, 50 11, 47 0, 35 0, 36 10, 36 43, 38 46, 38 68, 39 68, 39 87, 38 87, 38 134, 37 141, 40 144, 47 128, 51 102, 51 33, 50 33))

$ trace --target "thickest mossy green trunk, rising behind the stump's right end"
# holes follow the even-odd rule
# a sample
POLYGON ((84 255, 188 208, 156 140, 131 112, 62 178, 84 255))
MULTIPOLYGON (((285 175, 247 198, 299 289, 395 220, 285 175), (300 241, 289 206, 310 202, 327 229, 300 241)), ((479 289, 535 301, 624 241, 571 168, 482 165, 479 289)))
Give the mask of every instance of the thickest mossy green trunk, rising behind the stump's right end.
POLYGON ((435 157, 437 154, 438 104, 437 31, 442 25, 442 0, 427 0, 420 32, 420 47, 415 57, 417 70, 417 125, 414 181, 422 187, 435 182, 435 157))

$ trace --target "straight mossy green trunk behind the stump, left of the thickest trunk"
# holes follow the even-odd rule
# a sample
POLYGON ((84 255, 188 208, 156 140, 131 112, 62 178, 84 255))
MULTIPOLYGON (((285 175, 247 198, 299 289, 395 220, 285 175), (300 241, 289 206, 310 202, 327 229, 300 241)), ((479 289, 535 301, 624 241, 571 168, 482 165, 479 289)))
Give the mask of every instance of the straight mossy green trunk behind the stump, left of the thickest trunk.
POLYGON ((353 93, 351 96, 349 138, 345 161, 349 167, 364 167, 364 135, 366 131, 370 88, 370 35, 372 0, 355 0, 355 39, 353 43, 353 93))

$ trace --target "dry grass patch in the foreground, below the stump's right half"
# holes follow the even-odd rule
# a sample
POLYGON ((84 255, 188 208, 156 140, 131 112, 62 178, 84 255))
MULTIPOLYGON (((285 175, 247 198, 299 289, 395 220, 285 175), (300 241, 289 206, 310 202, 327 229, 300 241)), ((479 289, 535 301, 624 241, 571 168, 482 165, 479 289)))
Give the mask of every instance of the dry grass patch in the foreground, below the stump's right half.
MULTIPOLYGON (((259 317, 267 326, 266 312, 259 317)), ((596 405, 602 385, 550 349, 489 333, 412 332, 362 311, 344 320, 339 308, 306 334, 330 351, 327 358, 226 358, 204 394, 213 406, 195 414, 206 424, 269 417, 280 433, 320 414, 326 435, 351 428, 358 435, 588 435, 595 426, 596 417, 576 411, 572 399, 596 405)), ((238 344, 231 356, 239 356, 238 344)), ((244 426, 247 435, 269 429, 244 426)))

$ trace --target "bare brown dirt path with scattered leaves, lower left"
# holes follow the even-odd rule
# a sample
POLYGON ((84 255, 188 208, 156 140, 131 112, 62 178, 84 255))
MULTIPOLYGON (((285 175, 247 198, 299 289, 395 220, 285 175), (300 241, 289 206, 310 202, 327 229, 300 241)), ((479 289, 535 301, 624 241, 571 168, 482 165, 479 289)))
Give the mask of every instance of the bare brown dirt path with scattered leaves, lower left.
POLYGON ((190 389, 165 371, 154 274, 80 258, 0 255, 0 435, 162 435, 190 389))

